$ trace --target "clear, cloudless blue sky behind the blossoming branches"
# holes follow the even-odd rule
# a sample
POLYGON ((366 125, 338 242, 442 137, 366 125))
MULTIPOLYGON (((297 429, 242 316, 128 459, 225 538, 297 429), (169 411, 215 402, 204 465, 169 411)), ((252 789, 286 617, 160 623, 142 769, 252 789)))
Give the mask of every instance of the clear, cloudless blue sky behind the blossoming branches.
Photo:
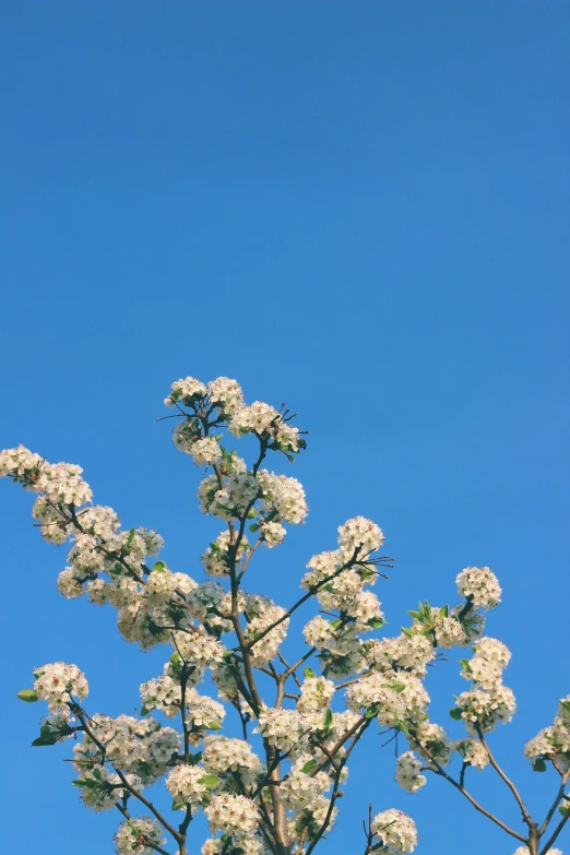
MULTIPOLYGON (((215 525, 162 400, 179 377, 227 375, 250 401, 286 401, 310 431, 294 466, 310 516, 251 589, 292 603, 358 513, 397 557, 379 591, 390 632, 419 597, 453 602, 463 567, 491 566, 488 633, 513 650, 520 703, 494 744, 543 810, 556 782, 521 755, 570 691, 569 4, 1 9, 0 444, 80 463, 96 501, 200 577, 215 525)), ((62 658, 87 673, 92 710, 131 712, 164 654, 64 601, 64 553, 32 530, 29 497, 3 483, 0 504, 3 840, 21 851, 33 821, 46 855, 111 852, 117 820, 79 804, 66 748, 28 747, 39 713, 13 694, 62 658)), ((448 724, 455 664, 430 687, 448 724)), ((425 855, 515 848, 437 780, 406 796, 379 737, 351 770, 323 853, 364 848, 368 801, 413 814, 425 855)), ((490 772, 474 777, 518 822, 490 772)))

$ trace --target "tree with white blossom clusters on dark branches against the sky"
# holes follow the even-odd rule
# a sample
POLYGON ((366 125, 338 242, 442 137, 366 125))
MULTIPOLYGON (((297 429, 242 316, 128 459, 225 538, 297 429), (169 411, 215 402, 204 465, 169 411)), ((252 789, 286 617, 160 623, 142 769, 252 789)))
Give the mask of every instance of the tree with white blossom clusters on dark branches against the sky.
MULTIPOLYGON (((511 654, 483 634, 485 611, 501 595, 491 570, 467 567, 456 578, 459 605, 435 608, 424 602, 408 613, 411 626, 401 634, 378 637, 383 614, 367 589, 387 578, 382 569, 391 559, 380 554, 380 527, 357 516, 340 526, 334 550, 309 560, 305 593, 289 608, 245 591, 258 549, 282 544, 284 523, 306 518, 299 482, 262 467, 270 455, 294 461, 306 448, 302 431, 283 406, 246 405, 239 384, 224 377, 207 385, 191 377, 178 380, 165 404, 175 411, 166 418, 178 420, 177 448, 206 468, 198 490, 201 510, 225 525, 202 556, 211 580, 201 584, 151 560, 163 546, 156 532, 121 530, 111 508, 92 504, 80 466, 48 463, 22 446, 0 453, 0 475, 37 495, 33 515, 44 538, 70 545, 60 592, 115 606, 127 641, 171 649, 164 673, 141 686, 140 717, 87 712, 85 676, 61 662, 34 672, 33 688, 19 692, 22 701, 48 704, 33 745, 74 740, 78 777, 72 783, 84 804, 122 815, 115 838, 120 855, 165 855, 171 852, 165 845, 173 843, 186 855, 188 830, 200 809, 214 835, 203 844, 203 855, 310 855, 334 824, 349 757, 376 724, 408 741, 409 750, 396 763, 404 789, 416 792, 428 774, 435 775, 512 836, 520 844, 515 855, 559 853, 553 845, 570 816, 565 794, 570 696, 560 701, 554 724, 525 748, 535 771, 550 765, 560 779, 538 822, 487 740, 515 710, 514 696, 502 682, 511 654), (249 464, 228 443, 246 435, 257 442, 249 464), (322 614, 305 626, 305 653, 289 663, 280 646, 290 616, 308 601, 316 601, 322 614), (456 646, 471 646, 473 655, 461 660, 461 675, 471 687, 451 710, 466 735, 453 741, 429 721, 424 678, 442 651, 456 646), (219 700, 197 689, 206 672, 219 700), (347 709, 339 711, 343 692, 347 709), (217 733, 230 709, 241 738, 217 733), (179 729, 162 716, 178 721, 179 729), (515 799, 520 829, 507 826, 466 788, 467 775, 487 767, 515 799), (161 779, 174 814, 157 809, 144 794, 161 779), (135 815, 143 809, 145 816, 135 815)), ((364 826, 365 855, 412 853, 416 846, 413 820, 394 808, 376 816, 370 808, 364 826)))

